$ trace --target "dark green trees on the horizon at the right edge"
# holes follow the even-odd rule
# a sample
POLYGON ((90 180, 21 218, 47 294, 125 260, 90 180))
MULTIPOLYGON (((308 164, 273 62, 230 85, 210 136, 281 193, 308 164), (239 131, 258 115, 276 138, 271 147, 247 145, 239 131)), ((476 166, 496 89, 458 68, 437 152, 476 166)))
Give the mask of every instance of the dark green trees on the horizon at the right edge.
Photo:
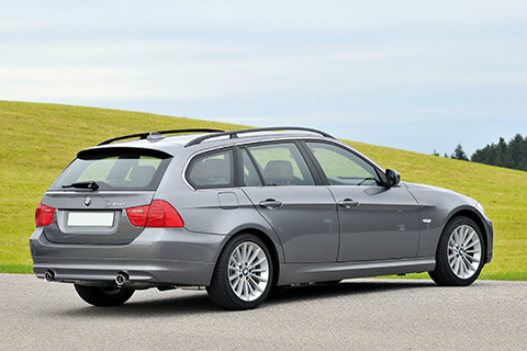
MULTIPOLYGON (((433 155, 439 156, 435 150, 433 155)), ((449 156, 445 154, 445 157, 449 156)), ((475 150, 470 159, 461 144, 458 144, 450 158, 527 171, 527 137, 516 134, 508 143, 501 137, 497 144, 487 144, 484 148, 475 150)))

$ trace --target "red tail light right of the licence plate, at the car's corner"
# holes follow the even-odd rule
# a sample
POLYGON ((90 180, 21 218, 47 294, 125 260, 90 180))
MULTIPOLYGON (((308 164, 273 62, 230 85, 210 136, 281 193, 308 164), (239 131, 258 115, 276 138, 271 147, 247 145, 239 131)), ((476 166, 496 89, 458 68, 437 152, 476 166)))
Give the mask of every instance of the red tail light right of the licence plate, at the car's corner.
POLYGON ((152 204, 126 208, 130 223, 136 227, 181 228, 183 219, 166 201, 154 200, 152 204))

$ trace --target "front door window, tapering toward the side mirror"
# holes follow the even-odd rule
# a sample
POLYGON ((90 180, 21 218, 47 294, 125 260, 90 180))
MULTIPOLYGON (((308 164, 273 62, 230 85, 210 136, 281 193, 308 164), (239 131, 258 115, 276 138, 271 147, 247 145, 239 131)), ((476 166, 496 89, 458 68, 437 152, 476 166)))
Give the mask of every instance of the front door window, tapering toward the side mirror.
POLYGON ((352 152, 330 144, 306 143, 332 185, 381 184, 375 169, 352 152))

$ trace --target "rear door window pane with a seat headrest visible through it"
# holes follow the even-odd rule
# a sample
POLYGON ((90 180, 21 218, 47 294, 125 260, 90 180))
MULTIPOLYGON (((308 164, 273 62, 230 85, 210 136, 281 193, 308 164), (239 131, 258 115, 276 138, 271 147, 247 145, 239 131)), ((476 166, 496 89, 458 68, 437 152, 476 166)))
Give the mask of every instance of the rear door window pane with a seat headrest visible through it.
MULTIPOLYGON (((314 185, 311 172, 293 143, 248 147, 266 185, 314 185)), ((244 159, 245 162, 245 159, 244 159)))

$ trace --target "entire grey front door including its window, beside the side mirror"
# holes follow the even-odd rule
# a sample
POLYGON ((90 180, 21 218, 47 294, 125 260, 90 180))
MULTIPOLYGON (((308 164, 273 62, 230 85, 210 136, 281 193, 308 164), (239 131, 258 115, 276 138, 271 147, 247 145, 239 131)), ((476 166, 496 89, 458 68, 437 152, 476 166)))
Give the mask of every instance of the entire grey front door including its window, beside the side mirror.
POLYGON ((329 143, 306 143, 338 204, 338 261, 412 258, 419 245, 419 212, 402 188, 385 188, 382 170, 329 143))

